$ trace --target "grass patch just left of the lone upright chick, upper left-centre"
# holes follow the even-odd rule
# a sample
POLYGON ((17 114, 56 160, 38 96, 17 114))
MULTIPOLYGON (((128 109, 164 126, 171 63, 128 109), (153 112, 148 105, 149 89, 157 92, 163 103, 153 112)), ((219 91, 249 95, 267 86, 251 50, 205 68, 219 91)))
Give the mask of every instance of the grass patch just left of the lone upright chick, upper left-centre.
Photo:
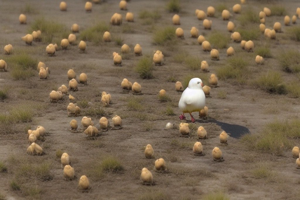
POLYGON ((109 31, 110 26, 106 22, 98 22, 95 25, 80 31, 80 40, 93 42, 99 44, 103 40, 103 34, 105 31, 109 31))

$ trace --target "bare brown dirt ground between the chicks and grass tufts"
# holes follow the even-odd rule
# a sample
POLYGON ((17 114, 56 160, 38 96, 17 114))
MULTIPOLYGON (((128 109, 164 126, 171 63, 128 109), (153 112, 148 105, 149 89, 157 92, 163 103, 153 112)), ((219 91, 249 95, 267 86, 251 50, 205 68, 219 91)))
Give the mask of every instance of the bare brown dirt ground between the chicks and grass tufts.
MULTIPOLYGON (((203 199, 207 194, 223 193, 229 199, 298 199, 300 171, 295 168, 295 159, 286 152, 284 157, 276 157, 263 152, 258 153, 245 148, 239 137, 247 133, 259 133, 266 123, 274 119, 285 120, 299 117, 300 103, 296 98, 288 95, 268 94, 260 89, 248 85, 236 85, 226 81, 218 82, 217 88, 212 88, 210 97, 206 98, 206 105, 209 108, 209 118, 200 119, 197 113, 193 113, 196 123, 189 137, 181 137, 179 119, 181 114, 178 102, 181 93, 175 90, 175 83, 168 82, 170 76, 178 81, 183 81, 184 76, 190 73, 202 73, 200 71, 187 70, 182 64, 173 61, 172 51, 166 47, 155 46, 152 43, 152 26, 143 25, 138 13, 142 9, 158 10, 162 17, 155 26, 163 27, 172 25, 172 16, 165 10, 167 1, 128 1, 128 11, 135 14, 135 21, 130 25, 134 27, 134 33, 121 33, 122 27, 112 27, 111 34, 122 37, 123 43, 128 44, 131 50, 135 44, 142 47, 143 55, 153 55, 154 51, 161 49, 165 54, 164 65, 155 66, 154 79, 141 79, 134 71, 135 64, 140 60, 139 56, 131 56, 122 61, 122 66, 114 66, 112 53, 120 52, 120 46, 114 42, 94 45, 87 42, 86 53, 79 53, 78 46, 70 46, 67 50, 59 50, 55 56, 49 57, 45 48, 48 44, 33 42, 28 46, 21 40, 27 34, 29 26, 39 17, 46 20, 60 22, 66 27, 73 23, 80 26, 80 30, 94 25, 95 22, 109 22, 113 13, 119 12, 125 18, 127 11, 119 9, 119 1, 107 0, 101 4, 93 4, 91 12, 85 12, 85 1, 73 0, 67 2, 67 11, 59 10, 60 1, 26 1, 38 10, 38 13, 27 14, 27 24, 21 25, 18 16, 25 7, 24 1, 1 0, 1 50, 0 58, 4 59, 3 47, 10 43, 16 52, 18 49, 28 49, 29 54, 46 64, 51 70, 49 77, 45 80, 38 78, 38 72, 29 80, 16 81, 10 76, 10 72, 0 73, 1 88, 10 87, 8 98, 1 102, 1 112, 7 112, 7 108, 20 103, 32 105, 37 110, 34 120, 29 123, 16 125, 14 133, 1 134, 0 137, 0 161, 8 163, 11 157, 17 157, 22 162, 43 162, 51 163, 50 174, 52 178, 41 181, 32 178, 27 186, 41 189, 37 196, 25 195, 20 191, 13 191, 10 188, 10 181, 15 174, 8 169, 7 173, 1 173, 0 194, 4 199, 203 199), (39 50, 36 50, 39 49, 39 50), (32 53, 31 53, 32 52, 32 53), (77 78, 80 73, 86 73, 88 84, 79 84, 78 91, 69 91, 77 102, 87 100, 92 105, 101 105, 100 94, 102 91, 110 93, 112 103, 109 107, 103 108, 107 113, 105 117, 111 122, 115 115, 122 118, 123 128, 119 130, 108 130, 101 132, 100 136, 87 138, 82 132, 80 125, 87 108, 82 108, 80 116, 68 117, 67 105, 70 103, 68 95, 63 101, 50 103, 49 93, 62 84, 68 85, 67 71, 74 69, 77 78), (131 82, 139 82, 142 85, 142 95, 134 95, 132 92, 124 92, 121 88, 123 78, 131 82), (176 115, 166 115, 165 109, 169 104, 160 102, 157 94, 165 89, 171 97, 171 107, 176 115), (20 91, 26 91, 21 94, 20 91), (220 98, 218 92, 226 94, 226 98, 220 98), (131 111, 128 109, 127 100, 129 97, 138 98, 144 106, 142 111, 131 111), (42 110, 41 110, 42 108, 42 110), (279 110, 279 112, 273 111, 279 110), (144 114, 144 115, 143 115, 144 114), (142 115, 142 116, 141 116, 142 115), (79 127, 77 132, 70 130, 69 122, 76 119, 79 127), (171 122, 174 128, 166 130, 165 125, 171 122), (26 154, 29 146, 25 127, 35 129, 38 125, 43 126, 47 134, 44 141, 38 144, 44 149, 43 156, 31 156, 26 154), (196 129, 203 126, 208 133, 207 140, 197 138, 196 129), (219 134, 225 130, 230 133, 228 145, 219 142, 219 134), (205 156, 194 156, 193 144, 200 141, 203 145, 205 156), (155 158, 146 159, 144 148, 151 144, 155 151, 155 158), (212 149, 218 146, 223 153, 223 162, 215 162, 211 157, 212 149), (71 166, 75 169, 76 179, 67 181, 63 177, 61 163, 55 154, 58 149, 67 152, 71 157, 71 166), (116 157, 124 170, 118 173, 104 172, 100 180, 93 179, 87 174, 95 163, 101 162, 106 156, 116 157), (154 169, 154 162, 158 158, 166 161, 167 172, 159 173, 154 169), (251 170, 260 164, 269 166, 269 169, 276 172, 273 180, 256 179, 251 170), (153 185, 143 185, 140 180, 140 172, 143 167, 148 168, 153 175, 153 185), (77 189, 81 175, 87 175, 90 181, 90 189, 82 192, 77 189)), ((239 1, 222 1, 230 9, 239 1)), ((285 6, 289 15, 295 14, 296 7, 300 4, 296 0, 274 1, 285 6)), ((217 0, 212 1, 182 1, 182 11, 179 13, 180 21, 184 29, 185 40, 178 45, 182 51, 208 61, 210 72, 215 73, 217 64, 225 63, 226 49, 220 50, 220 61, 211 61, 209 53, 203 52, 195 38, 190 37, 190 28, 196 26, 200 33, 209 34, 211 30, 204 30, 202 21, 199 21, 194 12, 195 9, 206 10, 210 5, 216 6, 217 0)), ((242 10, 251 6, 257 10, 257 14, 264 6, 260 1, 247 0, 242 5, 242 10)), ((232 14, 230 20, 237 22, 238 14, 232 14)), ((212 29, 223 30, 227 33, 227 21, 223 21, 220 13, 213 20, 212 29)), ((283 24, 283 17, 272 16, 268 18, 266 25, 280 20, 283 24)), ((299 19, 297 22, 300 23, 299 19)), ((124 22, 126 24, 128 22, 124 22)), ((284 29, 285 27, 283 27, 284 29)), ((284 30, 283 30, 284 33, 284 30)), ((281 34, 283 34, 281 33, 281 34)), ((79 33, 80 34, 80 33, 79 33)), ((76 34, 79 37, 79 34, 76 34)), ((79 39, 77 37, 77 43, 79 39)), ((62 38, 61 38, 62 39, 62 38)), ((259 43, 260 41, 254 41, 259 43)), ((287 42, 287 46, 296 47, 299 43, 287 42)), ((235 49, 239 48, 238 43, 230 43, 235 49)), ((280 42, 274 42, 271 47, 272 53, 281 51, 280 42)), ((133 52, 131 52, 133 54, 133 52)), ((280 70, 275 58, 268 58, 266 62, 274 63, 273 68, 280 70)), ((256 66, 253 59, 253 66, 256 66)), ((8 66, 8 71, 10 71, 8 66)), ((283 73, 283 72, 282 72, 283 73)), ((286 79, 293 75, 283 73, 286 79)), ((94 125, 99 128, 101 116, 91 116, 94 125)), ((187 116, 187 122, 189 121, 187 116)), ((298 142, 295 142, 297 145, 298 142)), ((22 163, 16 163, 22 164, 22 163)))

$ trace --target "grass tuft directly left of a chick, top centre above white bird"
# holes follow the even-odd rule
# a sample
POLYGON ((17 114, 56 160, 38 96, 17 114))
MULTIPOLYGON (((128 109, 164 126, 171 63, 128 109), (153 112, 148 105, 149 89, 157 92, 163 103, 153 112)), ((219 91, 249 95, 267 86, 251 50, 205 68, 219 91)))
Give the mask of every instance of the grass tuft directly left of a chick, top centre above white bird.
POLYGON ((154 32, 153 41, 156 45, 174 46, 177 43, 174 26, 166 26, 154 32))

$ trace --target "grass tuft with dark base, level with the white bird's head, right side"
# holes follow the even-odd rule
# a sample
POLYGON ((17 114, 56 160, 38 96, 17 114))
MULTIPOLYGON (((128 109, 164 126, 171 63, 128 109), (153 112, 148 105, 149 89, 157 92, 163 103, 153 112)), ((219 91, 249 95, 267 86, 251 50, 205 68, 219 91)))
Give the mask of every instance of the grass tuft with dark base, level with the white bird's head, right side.
POLYGON ((278 71, 268 71, 261 74, 253 81, 253 85, 269 93, 287 94, 286 85, 278 71))

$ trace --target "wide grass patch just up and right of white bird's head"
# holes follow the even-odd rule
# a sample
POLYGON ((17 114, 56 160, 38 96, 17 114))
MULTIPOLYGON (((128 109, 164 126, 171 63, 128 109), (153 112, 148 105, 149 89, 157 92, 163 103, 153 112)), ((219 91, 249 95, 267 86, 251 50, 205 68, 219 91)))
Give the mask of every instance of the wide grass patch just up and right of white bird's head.
POLYGON ((225 66, 217 68, 217 77, 220 80, 232 79, 239 84, 245 84, 249 78, 248 61, 242 57, 230 57, 225 66))

